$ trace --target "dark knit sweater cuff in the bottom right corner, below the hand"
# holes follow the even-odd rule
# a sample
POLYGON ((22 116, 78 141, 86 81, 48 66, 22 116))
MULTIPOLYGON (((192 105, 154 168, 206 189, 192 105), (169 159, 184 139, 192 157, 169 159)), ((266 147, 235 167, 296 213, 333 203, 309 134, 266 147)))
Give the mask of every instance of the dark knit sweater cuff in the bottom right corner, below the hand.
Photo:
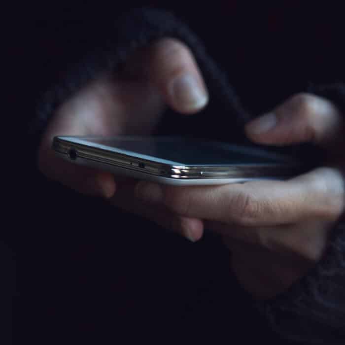
POLYGON ((302 344, 344 344, 345 223, 332 233, 324 258, 274 300, 257 302, 282 338, 302 344))

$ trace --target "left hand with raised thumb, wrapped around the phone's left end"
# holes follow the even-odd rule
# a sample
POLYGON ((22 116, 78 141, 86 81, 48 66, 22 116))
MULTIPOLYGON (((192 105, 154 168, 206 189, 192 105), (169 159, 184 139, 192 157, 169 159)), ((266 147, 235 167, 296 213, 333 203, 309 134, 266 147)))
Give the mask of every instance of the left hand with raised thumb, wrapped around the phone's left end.
POLYGON ((38 165, 48 178, 87 195, 109 198, 114 205, 150 217, 184 234, 201 226, 138 202, 134 181, 76 166, 51 149, 54 136, 149 135, 168 105, 193 114, 207 104, 207 90, 190 50, 175 39, 161 39, 138 51, 115 75, 100 75, 57 109, 40 144, 38 165), (117 189, 117 193, 115 193, 117 189), (115 195, 114 195, 115 194, 115 195))

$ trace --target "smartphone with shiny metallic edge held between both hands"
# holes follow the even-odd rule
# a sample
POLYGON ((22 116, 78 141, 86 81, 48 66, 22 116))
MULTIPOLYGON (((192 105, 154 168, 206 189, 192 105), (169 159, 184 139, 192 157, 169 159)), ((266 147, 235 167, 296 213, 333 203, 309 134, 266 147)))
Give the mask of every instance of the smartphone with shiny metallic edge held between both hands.
POLYGON ((171 185, 285 179, 303 170, 285 155, 205 139, 62 136, 53 149, 73 164, 171 185))

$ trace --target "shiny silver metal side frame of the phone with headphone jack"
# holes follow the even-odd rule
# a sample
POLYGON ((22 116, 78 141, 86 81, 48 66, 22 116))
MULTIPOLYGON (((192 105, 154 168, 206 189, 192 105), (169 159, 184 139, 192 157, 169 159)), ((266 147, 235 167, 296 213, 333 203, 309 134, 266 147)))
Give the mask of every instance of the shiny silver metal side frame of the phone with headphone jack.
MULTIPOLYGON (((70 138, 70 137, 69 137, 70 138)), ((234 164, 234 165, 174 165, 142 159, 129 154, 113 152, 103 148, 91 147, 55 137, 53 149, 63 158, 78 163, 92 161, 108 168, 122 168, 134 172, 155 175, 169 179, 204 180, 204 179, 236 179, 250 180, 260 178, 284 179, 301 173, 298 164, 234 164)))

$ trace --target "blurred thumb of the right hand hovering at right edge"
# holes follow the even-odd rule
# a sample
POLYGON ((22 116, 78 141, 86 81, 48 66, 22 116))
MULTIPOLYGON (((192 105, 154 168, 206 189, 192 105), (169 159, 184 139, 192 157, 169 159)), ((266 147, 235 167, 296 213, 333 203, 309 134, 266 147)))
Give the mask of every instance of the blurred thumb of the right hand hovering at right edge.
POLYGON ((246 133, 251 140, 263 144, 326 145, 340 136, 342 127, 343 117, 334 104, 311 94, 298 94, 250 122, 246 133))

